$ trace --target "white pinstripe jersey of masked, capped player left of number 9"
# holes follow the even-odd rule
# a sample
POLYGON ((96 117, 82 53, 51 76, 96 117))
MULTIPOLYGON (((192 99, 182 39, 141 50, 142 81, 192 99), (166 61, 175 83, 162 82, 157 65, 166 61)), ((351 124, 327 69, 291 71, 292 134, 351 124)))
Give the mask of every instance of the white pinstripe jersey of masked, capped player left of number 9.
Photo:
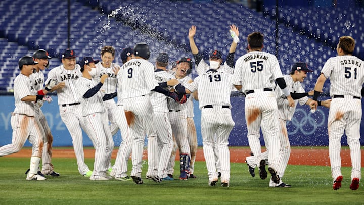
POLYGON ((94 80, 90 80, 84 77, 80 77, 77 80, 76 86, 78 91, 78 97, 82 106, 82 116, 85 117, 94 113, 105 113, 105 106, 103 103, 103 94, 99 90, 94 96, 90 98, 83 98, 82 96, 91 88, 95 87, 94 80))

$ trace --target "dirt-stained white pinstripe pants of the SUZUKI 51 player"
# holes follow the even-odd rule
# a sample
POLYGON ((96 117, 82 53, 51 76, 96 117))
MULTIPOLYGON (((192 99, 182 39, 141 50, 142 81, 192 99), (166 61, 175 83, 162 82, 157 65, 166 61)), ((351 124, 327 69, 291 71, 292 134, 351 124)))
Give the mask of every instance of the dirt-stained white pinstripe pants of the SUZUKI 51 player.
POLYGON ((341 174, 341 138, 347 136, 350 147, 350 158, 352 164, 351 179, 361 179, 361 151, 360 151, 360 121, 361 100, 353 99, 352 96, 344 98, 333 98, 329 110, 328 132, 329 132, 329 157, 332 177, 336 179, 341 174))

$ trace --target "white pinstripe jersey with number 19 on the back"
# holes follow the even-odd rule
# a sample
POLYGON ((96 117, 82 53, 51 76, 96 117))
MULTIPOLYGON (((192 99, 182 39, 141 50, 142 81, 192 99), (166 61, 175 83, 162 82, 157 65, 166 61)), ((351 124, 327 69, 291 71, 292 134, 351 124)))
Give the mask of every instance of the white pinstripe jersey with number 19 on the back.
POLYGON ((231 107, 230 92, 233 75, 219 70, 208 71, 195 78, 200 109, 206 105, 231 107))

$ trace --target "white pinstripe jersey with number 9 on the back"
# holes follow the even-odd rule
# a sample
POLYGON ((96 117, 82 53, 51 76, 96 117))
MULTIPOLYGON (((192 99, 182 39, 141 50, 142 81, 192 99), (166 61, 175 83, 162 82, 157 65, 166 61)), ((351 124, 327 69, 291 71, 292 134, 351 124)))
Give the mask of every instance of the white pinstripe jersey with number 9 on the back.
POLYGON ((154 66, 144 59, 131 59, 120 69, 122 99, 147 95, 158 83, 154 81, 154 66))

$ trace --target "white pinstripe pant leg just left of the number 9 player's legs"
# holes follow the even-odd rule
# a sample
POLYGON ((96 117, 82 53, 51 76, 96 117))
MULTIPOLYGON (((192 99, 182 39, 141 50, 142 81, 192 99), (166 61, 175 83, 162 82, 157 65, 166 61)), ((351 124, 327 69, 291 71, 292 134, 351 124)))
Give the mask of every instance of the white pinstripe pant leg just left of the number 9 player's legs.
POLYGON ((113 166, 111 175, 123 178, 127 176, 126 172, 128 160, 133 147, 133 137, 131 135, 130 128, 126 122, 124 107, 121 105, 116 106, 115 111, 115 121, 120 128, 122 141, 115 159, 115 164, 113 166))

